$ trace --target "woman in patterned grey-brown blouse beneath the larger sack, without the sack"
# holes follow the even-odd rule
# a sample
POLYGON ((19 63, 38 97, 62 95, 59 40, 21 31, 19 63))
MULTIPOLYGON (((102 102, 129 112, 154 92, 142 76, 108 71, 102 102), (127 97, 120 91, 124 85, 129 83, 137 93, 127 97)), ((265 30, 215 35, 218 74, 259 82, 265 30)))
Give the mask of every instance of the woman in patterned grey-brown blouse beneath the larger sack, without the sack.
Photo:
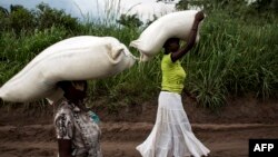
POLYGON ((98 119, 83 104, 87 81, 60 81, 57 86, 64 92, 53 104, 59 157, 102 157, 98 119))

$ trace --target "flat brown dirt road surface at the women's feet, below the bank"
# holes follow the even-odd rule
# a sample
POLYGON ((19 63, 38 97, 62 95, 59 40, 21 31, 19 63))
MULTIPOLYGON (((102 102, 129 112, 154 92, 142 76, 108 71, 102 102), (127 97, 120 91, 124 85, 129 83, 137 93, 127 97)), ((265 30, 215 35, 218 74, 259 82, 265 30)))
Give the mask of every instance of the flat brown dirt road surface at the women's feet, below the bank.
MULTIPOLYGON (((150 122, 101 124, 105 157, 140 157, 136 146, 151 130, 150 122)), ((248 157, 248 139, 277 138, 278 125, 192 124, 196 136, 211 150, 210 157, 248 157)), ((57 154, 51 125, 1 126, 0 157, 50 157, 57 154)))

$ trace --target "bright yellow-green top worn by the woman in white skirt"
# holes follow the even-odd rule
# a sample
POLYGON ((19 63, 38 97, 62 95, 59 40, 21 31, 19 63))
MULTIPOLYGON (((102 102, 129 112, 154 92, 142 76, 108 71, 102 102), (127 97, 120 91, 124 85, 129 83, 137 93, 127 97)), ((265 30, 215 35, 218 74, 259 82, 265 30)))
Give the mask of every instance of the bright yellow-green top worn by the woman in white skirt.
POLYGON ((179 60, 172 62, 171 53, 165 55, 161 61, 162 70, 162 90, 181 94, 183 89, 183 81, 186 79, 186 71, 181 67, 179 60))

